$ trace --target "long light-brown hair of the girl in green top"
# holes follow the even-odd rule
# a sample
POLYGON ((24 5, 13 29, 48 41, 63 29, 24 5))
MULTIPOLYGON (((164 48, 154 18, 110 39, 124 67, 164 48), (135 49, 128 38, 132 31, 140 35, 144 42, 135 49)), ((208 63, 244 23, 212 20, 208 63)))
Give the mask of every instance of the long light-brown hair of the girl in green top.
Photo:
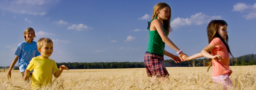
POLYGON ((158 4, 156 4, 153 8, 153 14, 152 14, 152 19, 154 19, 155 17, 157 17, 158 13, 156 10, 160 11, 161 9, 163 9, 164 7, 168 6, 170 8, 170 15, 169 18, 167 20, 163 20, 163 24, 164 24, 164 29, 167 32, 167 36, 169 35, 169 32, 171 32, 171 26, 170 26, 170 21, 171 21, 171 7, 164 3, 164 2, 160 2, 158 4))

